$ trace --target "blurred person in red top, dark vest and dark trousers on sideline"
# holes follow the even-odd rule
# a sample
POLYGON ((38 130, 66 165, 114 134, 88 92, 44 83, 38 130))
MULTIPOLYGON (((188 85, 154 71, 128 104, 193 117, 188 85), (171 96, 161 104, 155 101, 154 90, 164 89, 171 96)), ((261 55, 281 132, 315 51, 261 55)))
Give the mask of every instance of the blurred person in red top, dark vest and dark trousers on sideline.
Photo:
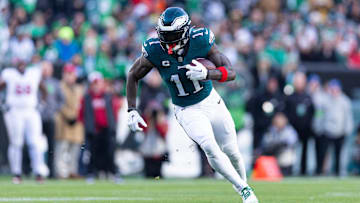
POLYGON ((81 100, 79 114, 91 154, 87 181, 92 183, 98 172, 104 171, 114 175, 114 181, 118 183, 121 177, 115 164, 116 98, 106 92, 105 81, 99 72, 92 72, 88 79, 90 87, 81 100))

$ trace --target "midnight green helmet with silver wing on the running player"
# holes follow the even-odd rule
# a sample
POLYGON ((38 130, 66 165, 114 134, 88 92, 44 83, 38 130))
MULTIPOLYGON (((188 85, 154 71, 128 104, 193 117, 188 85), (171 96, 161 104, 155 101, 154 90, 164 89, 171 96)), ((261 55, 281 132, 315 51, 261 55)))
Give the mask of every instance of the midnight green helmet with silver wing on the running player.
POLYGON ((190 23, 189 15, 182 8, 169 7, 160 15, 156 30, 161 46, 169 54, 178 52, 189 41, 190 23))

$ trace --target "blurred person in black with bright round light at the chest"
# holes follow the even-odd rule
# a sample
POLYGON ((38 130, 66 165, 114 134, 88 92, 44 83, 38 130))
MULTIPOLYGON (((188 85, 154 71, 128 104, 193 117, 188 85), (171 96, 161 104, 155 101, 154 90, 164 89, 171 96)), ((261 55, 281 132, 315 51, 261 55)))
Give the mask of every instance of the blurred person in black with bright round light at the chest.
POLYGON ((253 150, 257 157, 260 155, 262 138, 271 125, 273 116, 284 109, 284 97, 279 91, 278 78, 275 75, 271 75, 267 80, 265 91, 249 100, 247 109, 254 119, 253 150))

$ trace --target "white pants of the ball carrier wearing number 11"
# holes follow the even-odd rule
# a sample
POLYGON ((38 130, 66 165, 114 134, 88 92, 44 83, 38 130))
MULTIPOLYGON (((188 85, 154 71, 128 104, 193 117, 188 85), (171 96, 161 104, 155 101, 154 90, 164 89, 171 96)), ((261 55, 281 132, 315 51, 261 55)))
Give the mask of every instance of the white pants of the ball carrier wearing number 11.
POLYGON ((218 93, 213 89, 207 98, 197 104, 174 106, 177 121, 203 149, 211 167, 235 187, 248 186, 234 121, 218 93))

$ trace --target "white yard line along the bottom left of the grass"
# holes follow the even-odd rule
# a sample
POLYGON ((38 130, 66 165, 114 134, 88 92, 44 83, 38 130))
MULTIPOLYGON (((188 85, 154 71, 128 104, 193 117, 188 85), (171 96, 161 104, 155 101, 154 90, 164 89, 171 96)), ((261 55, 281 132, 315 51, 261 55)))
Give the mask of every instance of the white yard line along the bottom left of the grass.
POLYGON ((147 197, 1 197, 0 202, 69 202, 69 201, 151 201, 147 197))

